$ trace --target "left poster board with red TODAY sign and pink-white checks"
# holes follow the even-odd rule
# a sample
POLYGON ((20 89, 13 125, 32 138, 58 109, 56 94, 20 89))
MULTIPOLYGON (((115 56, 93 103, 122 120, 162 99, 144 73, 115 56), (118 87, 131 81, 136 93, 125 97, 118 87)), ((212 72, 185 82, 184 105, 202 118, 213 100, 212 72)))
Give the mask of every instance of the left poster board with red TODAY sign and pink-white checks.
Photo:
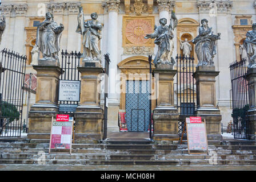
POLYGON ((51 135, 49 154, 51 149, 69 149, 71 154, 74 118, 67 114, 57 114, 51 118, 51 135))

